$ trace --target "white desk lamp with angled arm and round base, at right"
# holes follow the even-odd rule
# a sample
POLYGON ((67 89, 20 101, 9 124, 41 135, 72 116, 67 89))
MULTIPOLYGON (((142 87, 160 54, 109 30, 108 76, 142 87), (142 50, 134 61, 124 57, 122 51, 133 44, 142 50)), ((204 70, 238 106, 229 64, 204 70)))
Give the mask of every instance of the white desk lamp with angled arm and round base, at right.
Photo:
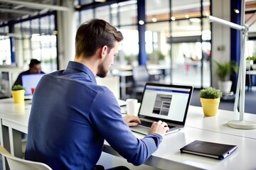
POLYGON ((240 120, 230 120, 228 121, 228 125, 231 128, 237 128, 237 129, 255 129, 256 123, 251 121, 245 121, 243 118, 245 113, 245 72, 246 72, 245 42, 247 40, 248 27, 245 26, 245 24, 240 26, 238 24, 231 23, 229 21, 225 21, 223 19, 216 18, 214 16, 209 16, 209 20, 216 23, 223 24, 230 28, 234 28, 236 30, 240 30, 243 33, 242 51, 240 56, 240 68, 238 73, 238 85, 237 85, 237 90, 235 94, 235 105, 234 105, 234 112, 236 112, 238 108, 238 99, 240 94, 240 120))

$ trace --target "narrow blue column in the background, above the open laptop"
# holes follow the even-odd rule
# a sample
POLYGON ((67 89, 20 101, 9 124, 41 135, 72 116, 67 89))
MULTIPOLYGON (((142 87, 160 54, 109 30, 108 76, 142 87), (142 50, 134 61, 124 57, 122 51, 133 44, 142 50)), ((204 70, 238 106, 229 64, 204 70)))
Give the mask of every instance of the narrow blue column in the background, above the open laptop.
POLYGON ((145 0, 137 1, 138 5, 138 31, 139 31, 139 65, 145 65, 147 61, 145 47, 145 24, 140 25, 139 21, 146 22, 145 0))

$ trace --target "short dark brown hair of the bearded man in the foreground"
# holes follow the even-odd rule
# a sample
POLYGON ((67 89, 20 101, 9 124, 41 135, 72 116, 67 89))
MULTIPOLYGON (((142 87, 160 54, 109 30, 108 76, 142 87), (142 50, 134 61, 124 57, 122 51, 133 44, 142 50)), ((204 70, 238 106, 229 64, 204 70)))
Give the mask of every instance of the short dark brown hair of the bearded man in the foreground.
POLYGON ((107 45, 108 52, 114 47, 114 42, 122 41, 122 33, 110 23, 100 19, 92 19, 82 24, 75 36, 75 55, 91 57, 98 48, 107 45))

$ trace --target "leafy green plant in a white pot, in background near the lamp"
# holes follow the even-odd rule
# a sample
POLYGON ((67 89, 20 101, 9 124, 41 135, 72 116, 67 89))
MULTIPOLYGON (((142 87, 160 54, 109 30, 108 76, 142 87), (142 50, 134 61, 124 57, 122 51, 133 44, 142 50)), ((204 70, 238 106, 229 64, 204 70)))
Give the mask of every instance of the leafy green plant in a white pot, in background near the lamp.
POLYGON ((216 74, 219 77, 218 88, 223 94, 230 94, 232 81, 230 81, 230 74, 233 72, 238 73, 238 64, 236 62, 216 62, 216 74))

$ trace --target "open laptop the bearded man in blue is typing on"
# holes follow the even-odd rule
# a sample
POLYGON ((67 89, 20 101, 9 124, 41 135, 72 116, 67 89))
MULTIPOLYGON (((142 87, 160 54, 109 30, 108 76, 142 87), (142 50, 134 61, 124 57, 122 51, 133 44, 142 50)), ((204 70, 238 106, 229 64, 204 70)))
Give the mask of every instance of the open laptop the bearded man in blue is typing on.
POLYGON ((138 117, 141 125, 130 127, 132 131, 148 135, 154 121, 162 120, 170 131, 181 130, 186 122, 193 86, 146 83, 138 117))

